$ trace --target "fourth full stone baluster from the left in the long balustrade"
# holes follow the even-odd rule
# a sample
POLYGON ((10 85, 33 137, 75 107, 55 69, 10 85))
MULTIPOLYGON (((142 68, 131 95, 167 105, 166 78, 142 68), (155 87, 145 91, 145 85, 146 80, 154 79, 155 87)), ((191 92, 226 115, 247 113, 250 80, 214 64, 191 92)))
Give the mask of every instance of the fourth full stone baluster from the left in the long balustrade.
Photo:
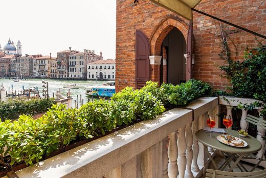
POLYGON ((192 160, 192 171, 194 172, 198 172, 200 171, 200 169, 198 168, 197 165, 197 157, 198 157, 198 141, 196 139, 195 133, 198 130, 198 120, 200 119, 200 117, 198 117, 195 121, 192 122, 192 133, 193 133, 193 160, 192 160))

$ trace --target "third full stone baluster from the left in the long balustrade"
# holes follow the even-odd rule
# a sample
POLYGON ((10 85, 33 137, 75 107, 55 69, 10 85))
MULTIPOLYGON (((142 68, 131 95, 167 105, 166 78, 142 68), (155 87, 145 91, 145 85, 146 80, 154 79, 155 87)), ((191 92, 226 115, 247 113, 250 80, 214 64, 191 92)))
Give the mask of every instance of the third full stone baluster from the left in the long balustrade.
POLYGON ((187 150, 186 150, 186 157, 187 157, 187 165, 186 165, 186 171, 185 175, 186 177, 193 177, 193 173, 191 171, 191 164, 193 159, 193 150, 192 150, 192 144, 193 144, 193 135, 192 135, 192 122, 188 123, 186 126, 186 141, 187 141, 187 150))

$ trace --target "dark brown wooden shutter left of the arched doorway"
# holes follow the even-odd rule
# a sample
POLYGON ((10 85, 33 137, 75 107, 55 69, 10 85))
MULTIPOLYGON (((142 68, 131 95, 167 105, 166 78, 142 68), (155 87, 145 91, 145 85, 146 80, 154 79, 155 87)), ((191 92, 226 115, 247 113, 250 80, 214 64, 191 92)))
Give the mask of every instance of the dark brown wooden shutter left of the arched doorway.
POLYGON ((142 88, 150 80, 150 45, 147 36, 136 30, 136 89, 142 88))

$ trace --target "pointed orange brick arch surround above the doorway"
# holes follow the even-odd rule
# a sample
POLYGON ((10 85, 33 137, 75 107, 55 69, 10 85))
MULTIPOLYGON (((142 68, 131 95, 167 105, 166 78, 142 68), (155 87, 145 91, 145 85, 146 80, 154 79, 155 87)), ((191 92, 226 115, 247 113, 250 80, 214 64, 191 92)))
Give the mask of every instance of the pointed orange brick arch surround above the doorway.
POLYGON ((179 29, 187 42, 188 25, 174 18, 167 18, 153 31, 150 38, 151 55, 161 55, 161 46, 165 36, 173 29, 179 29))

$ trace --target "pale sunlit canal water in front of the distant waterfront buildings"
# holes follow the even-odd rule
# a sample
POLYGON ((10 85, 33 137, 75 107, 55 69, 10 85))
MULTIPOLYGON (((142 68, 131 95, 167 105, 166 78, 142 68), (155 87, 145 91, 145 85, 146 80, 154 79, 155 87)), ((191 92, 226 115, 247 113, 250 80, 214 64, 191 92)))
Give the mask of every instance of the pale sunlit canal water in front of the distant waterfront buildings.
POLYGON ((88 101, 88 97, 85 94, 85 88, 89 87, 89 86, 103 86, 104 83, 107 83, 106 81, 86 81, 86 80, 82 80, 82 81, 73 81, 73 80, 58 80, 58 79, 51 79, 51 78, 32 78, 32 79, 27 79, 27 80, 20 80, 19 82, 14 82, 13 79, 8 79, 8 78, 0 78, 0 85, 4 85, 5 89, 7 91, 11 91, 12 87, 13 87, 13 91, 14 90, 23 90, 24 89, 29 89, 31 87, 38 87, 38 91, 40 92, 40 96, 42 96, 42 83, 41 80, 44 80, 46 82, 48 82, 49 85, 49 95, 50 97, 52 97, 53 92, 54 92, 54 97, 56 94, 56 91, 61 90, 61 95, 66 96, 66 92, 69 91, 69 89, 67 88, 63 88, 63 86, 67 86, 67 85, 73 85, 76 84, 77 86, 79 86, 79 89, 70 89, 70 92, 72 93, 71 96, 74 97, 73 98, 73 102, 72 102, 72 107, 74 107, 74 100, 76 100, 76 97, 78 95, 78 106, 80 106, 80 94, 81 94, 81 98, 84 101, 84 104, 87 103, 88 101))

